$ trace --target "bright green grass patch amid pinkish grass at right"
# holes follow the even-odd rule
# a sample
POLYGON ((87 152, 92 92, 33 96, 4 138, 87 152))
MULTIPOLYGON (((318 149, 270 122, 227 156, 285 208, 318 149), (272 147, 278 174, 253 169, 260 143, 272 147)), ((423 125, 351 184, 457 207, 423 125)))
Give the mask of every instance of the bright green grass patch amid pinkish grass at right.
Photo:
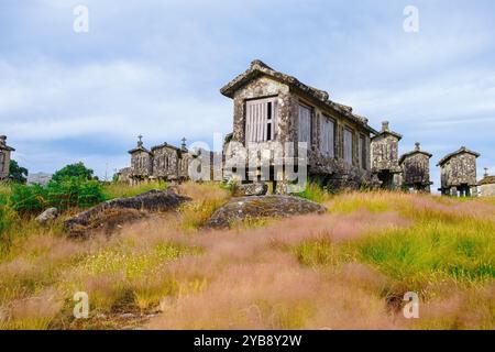
POLYGON ((476 283, 495 278, 494 235, 493 221, 433 219, 371 234, 355 245, 362 261, 396 280, 476 283))

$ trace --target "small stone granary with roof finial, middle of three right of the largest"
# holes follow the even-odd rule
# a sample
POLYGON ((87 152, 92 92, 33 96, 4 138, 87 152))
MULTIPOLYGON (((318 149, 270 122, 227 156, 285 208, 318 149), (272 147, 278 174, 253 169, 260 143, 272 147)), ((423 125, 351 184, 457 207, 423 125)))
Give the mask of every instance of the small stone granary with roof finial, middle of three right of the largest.
POLYGON ((405 153, 399 158, 399 165, 403 169, 403 188, 409 191, 430 193, 430 153, 421 151, 419 143, 416 142, 415 150, 405 153))

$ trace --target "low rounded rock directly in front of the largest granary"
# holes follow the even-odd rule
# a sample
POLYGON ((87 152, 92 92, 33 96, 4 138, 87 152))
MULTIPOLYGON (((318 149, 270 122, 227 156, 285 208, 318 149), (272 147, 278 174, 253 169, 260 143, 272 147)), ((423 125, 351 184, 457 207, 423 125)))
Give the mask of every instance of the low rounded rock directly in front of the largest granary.
POLYGON ((241 197, 230 200, 208 220, 209 228, 228 228, 246 218, 287 218, 306 213, 323 213, 327 209, 314 201, 283 195, 241 197))

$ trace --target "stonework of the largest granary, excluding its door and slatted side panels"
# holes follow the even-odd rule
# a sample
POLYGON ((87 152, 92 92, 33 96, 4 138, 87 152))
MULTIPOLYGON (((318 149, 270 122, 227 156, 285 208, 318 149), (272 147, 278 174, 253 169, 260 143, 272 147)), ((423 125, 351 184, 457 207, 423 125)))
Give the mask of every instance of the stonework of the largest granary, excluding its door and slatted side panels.
MULTIPOLYGON (((328 99, 328 94, 316 88, 300 84, 296 78, 274 72, 260 62, 253 62, 251 68, 243 75, 237 77, 222 88, 222 94, 233 99, 233 133, 230 142, 239 143, 240 146, 249 146, 249 160, 256 158, 260 153, 273 151, 279 143, 292 142, 295 150, 299 134, 300 107, 309 114, 310 122, 307 130, 308 135, 308 173, 309 175, 323 176, 330 185, 336 187, 358 188, 371 184, 370 172, 370 136, 375 132, 367 125, 367 120, 352 113, 352 108, 334 103, 328 99), (268 99, 275 105, 275 128, 272 140, 256 141, 250 143, 252 135, 246 135, 250 107, 261 99, 268 99), (331 151, 329 142, 322 136, 322 123, 324 131, 332 131, 331 151), (329 130, 330 129, 330 130, 329 130), (344 131, 351 133, 351 146, 344 147, 344 131), (326 144, 324 144, 324 143, 326 144), (323 145, 327 145, 323 150, 323 145), (345 158, 344 158, 344 154, 345 158)), ((307 116, 305 116, 307 119, 307 116)), ((349 141, 349 138, 346 139, 349 141)), ((348 144, 349 144, 348 143, 348 144)), ((235 147, 228 148, 227 160, 235 155, 235 147)), ((274 155, 271 156, 271 165, 274 155)), ((229 165, 227 165, 229 166, 229 165)), ((224 177, 228 179, 230 167, 224 167, 224 177)), ((253 178, 258 169, 248 172, 253 178)), ((274 175, 272 175, 274 176, 274 175)))

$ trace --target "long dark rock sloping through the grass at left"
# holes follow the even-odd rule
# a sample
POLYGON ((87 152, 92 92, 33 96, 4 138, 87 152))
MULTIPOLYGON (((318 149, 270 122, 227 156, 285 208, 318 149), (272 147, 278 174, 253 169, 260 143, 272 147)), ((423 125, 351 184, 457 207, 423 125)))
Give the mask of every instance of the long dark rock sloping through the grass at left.
POLYGON ((190 198, 172 190, 150 190, 130 198, 117 198, 102 202, 64 222, 66 231, 72 235, 81 235, 85 230, 101 228, 114 229, 120 222, 129 222, 145 217, 148 212, 169 211, 176 209, 190 198), (107 227, 110 224, 110 227, 107 227))

